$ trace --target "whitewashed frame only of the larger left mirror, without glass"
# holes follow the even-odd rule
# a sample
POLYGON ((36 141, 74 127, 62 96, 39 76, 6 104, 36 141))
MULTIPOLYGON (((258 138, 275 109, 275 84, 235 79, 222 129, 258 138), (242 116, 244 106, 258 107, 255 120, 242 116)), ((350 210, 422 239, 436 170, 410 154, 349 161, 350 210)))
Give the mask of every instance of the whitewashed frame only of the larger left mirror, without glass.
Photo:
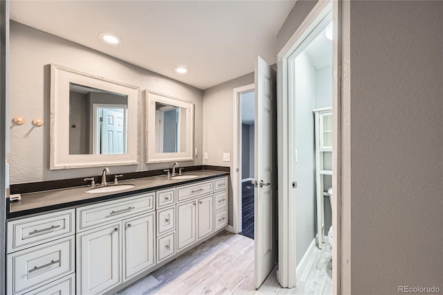
POLYGON ((140 145, 138 87, 116 82, 98 75, 51 64, 51 157, 49 169, 71 169, 103 166, 136 165, 140 145), (69 84, 85 85, 127 96, 127 153, 126 154, 69 154, 69 84))

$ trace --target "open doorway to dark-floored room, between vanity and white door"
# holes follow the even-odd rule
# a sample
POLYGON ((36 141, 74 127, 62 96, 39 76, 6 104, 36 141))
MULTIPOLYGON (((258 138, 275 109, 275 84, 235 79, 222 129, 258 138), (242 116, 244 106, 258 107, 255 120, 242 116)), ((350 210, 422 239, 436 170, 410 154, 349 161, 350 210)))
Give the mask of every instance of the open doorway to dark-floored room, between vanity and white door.
POLYGON ((254 239, 254 151, 255 151, 255 91, 242 92, 239 95, 239 105, 241 109, 240 120, 242 122, 239 126, 239 134, 241 141, 239 141, 240 151, 240 165, 241 179, 239 186, 241 186, 242 199, 242 231, 240 235, 254 239))

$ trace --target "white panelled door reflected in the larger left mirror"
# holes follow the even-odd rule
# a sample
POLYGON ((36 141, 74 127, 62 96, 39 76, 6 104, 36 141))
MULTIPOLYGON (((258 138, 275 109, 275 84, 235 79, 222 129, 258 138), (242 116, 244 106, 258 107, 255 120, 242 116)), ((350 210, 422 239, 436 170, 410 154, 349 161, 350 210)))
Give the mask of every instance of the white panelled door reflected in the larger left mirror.
POLYGON ((124 154, 125 109, 102 109, 101 154, 124 154))

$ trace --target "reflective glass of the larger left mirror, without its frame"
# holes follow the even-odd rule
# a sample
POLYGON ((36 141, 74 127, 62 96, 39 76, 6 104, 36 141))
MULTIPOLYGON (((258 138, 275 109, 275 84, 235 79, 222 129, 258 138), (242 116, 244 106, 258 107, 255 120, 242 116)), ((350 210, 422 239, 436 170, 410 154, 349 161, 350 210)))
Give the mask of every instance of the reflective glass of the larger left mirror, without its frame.
POLYGON ((69 154, 127 153, 127 96, 69 83, 69 154))

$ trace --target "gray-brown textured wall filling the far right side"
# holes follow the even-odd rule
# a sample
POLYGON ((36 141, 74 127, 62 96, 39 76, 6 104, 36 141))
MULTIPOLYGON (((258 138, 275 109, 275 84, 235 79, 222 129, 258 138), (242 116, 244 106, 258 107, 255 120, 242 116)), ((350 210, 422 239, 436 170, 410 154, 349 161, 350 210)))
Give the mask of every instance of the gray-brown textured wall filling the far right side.
POLYGON ((442 16, 343 3, 343 294, 443 289, 442 16))

